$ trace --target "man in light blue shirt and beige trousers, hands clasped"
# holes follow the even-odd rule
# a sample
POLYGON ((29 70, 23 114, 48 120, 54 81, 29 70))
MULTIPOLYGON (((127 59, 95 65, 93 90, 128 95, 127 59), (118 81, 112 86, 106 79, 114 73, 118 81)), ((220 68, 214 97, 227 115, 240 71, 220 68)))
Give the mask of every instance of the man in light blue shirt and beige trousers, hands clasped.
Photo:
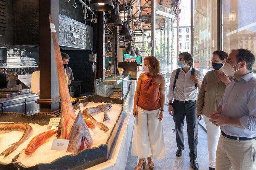
POLYGON ((216 170, 256 168, 256 78, 251 72, 254 55, 246 49, 233 50, 222 67, 233 76, 210 121, 220 126, 216 170))

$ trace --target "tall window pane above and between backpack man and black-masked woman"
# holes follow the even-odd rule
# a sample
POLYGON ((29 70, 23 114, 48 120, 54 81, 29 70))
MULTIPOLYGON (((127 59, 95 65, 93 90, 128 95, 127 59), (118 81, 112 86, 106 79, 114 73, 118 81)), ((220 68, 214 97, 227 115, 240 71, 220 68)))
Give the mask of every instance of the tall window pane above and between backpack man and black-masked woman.
POLYGON ((217 50, 217 1, 194 0, 194 66, 210 68, 217 50))

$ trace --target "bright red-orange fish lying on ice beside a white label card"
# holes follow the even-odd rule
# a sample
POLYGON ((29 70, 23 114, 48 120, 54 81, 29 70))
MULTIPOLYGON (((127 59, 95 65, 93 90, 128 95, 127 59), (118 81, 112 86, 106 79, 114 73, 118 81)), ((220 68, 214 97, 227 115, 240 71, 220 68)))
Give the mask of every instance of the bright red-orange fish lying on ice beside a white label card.
POLYGON ((25 154, 31 155, 32 153, 34 153, 39 146, 46 143, 48 139, 52 137, 52 135, 54 135, 55 133, 57 133, 57 129, 49 130, 32 138, 27 148, 25 149, 25 154))

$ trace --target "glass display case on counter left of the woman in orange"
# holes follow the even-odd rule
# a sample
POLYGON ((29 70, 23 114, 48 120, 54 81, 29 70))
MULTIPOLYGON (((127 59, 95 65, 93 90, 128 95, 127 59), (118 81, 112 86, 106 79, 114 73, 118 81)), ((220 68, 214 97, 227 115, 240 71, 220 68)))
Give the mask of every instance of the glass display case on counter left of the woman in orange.
POLYGON ((96 79, 96 94, 113 99, 124 99, 129 92, 131 75, 107 76, 96 79))

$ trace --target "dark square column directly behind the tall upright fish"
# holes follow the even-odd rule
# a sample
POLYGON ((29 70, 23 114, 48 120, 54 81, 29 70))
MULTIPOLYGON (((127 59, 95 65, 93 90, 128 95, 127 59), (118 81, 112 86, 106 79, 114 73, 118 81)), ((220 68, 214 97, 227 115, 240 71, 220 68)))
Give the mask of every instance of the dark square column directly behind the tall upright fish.
POLYGON ((59 87, 55 52, 50 32, 49 14, 58 35, 59 0, 39 1, 39 64, 40 64, 40 105, 41 113, 55 113, 59 110, 59 87))

